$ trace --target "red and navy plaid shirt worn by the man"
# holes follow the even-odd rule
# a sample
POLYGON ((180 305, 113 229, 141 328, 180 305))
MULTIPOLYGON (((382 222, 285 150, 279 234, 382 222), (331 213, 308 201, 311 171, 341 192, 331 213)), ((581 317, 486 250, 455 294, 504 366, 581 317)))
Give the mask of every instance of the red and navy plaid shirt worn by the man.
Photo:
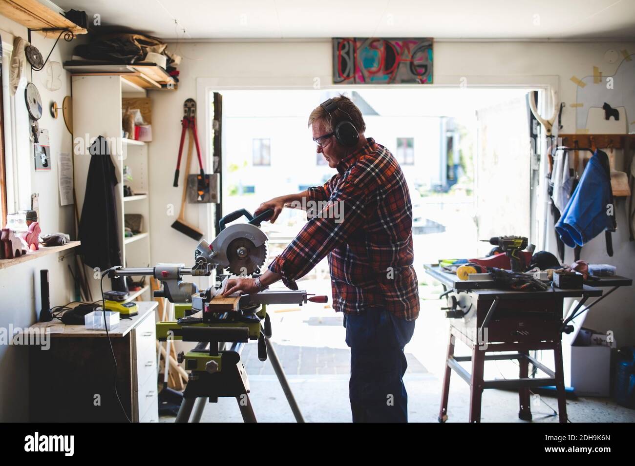
POLYGON ((314 201, 307 202, 309 221, 269 270, 297 290, 295 280, 328 254, 335 311, 385 307, 415 320, 412 205, 401 167, 387 148, 368 138, 337 171, 324 186, 309 188, 309 201, 314 201))

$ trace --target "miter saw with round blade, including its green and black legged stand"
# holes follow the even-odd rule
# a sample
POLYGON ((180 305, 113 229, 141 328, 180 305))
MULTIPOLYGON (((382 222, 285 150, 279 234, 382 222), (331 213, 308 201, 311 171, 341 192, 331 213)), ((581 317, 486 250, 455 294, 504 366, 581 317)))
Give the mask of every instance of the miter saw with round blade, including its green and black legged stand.
POLYGON ((215 285, 200 292, 194 283, 182 280, 184 275, 210 276, 218 267, 228 269, 230 275, 245 277, 259 274, 267 258, 267 235, 260 230, 260 224, 270 219, 273 213, 272 209, 267 209, 254 217, 247 210, 240 209, 223 217, 218 222, 220 233, 211 244, 203 240, 197 245, 194 266, 190 268, 185 264, 157 264, 154 268, 117 267, 108 271, 110 278, 151 275, 160 280, 163 289, 156 290, 154 297, 164 297, 175 303, 177 320, 157 323, 157 339, 168 344, 170 340, 198 342, 191 351, 178 355, 178 362, 185 363, 185 370, 190 370, 190 374, 177 422, 188 422, 197 399, 195 421, 203 413, 204 399, 215 403, 219 397, 236 398, 243 419, 246 422, 256 420, 248 396, 247 375, 240 360, 248 340, 258 340, 258 359, 265 361, 269 358, 293 415, 298 422, 303 422, 282 366, 269 342, 271 320, 267 304, 302 306, 307 301, 326 302, 327 297, 309 295, 305 290, 267 289, 241 295, 231 304, 219 306, 217 302, 229 275, 217 274, 215 285), (247 223, 226 226, 243 216, 247 223), (214 299, 217 302, 213 302, 214 299))

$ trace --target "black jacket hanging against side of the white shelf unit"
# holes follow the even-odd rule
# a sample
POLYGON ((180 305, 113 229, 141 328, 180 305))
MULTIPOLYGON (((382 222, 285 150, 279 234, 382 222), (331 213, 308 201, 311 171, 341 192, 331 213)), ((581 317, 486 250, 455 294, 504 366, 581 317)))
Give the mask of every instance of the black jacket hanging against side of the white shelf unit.
POLYGON ((115 194, 119 181, 104 136, 95 139, 90 146, 90 155, 78 237, 84 264, 104 271, 123 265, 115 194))

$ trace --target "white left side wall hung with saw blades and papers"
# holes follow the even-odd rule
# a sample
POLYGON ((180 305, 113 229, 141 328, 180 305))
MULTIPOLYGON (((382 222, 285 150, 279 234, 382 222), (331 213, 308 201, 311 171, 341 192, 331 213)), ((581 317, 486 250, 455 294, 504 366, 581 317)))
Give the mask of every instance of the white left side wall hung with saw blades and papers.
MULTIPOLYGON (((20 36, 27 40, 27 29, 18 23, 0 16, 0 34, 20 36)), ((55 39, 44 39, 34 33, 33 44, 39 48, 44 58, 48 55, 55 39)), ((76 41, 65 42, 60 39, 50 60, 62 63, 70 58, 76 41)), ((28 65, 27 65, 28 66, 28 65)), ((30 80, 30 68, 27 74, 30 80)), ((64 96, 70 95, 70 79, 66 72, 62 74, 62 87, 57 91, 48 91, 44 87, 46 71, 33 72, 32 81, 36 84, 42 98, 43 116, 39 120, 40 128, 50 133, 52 167, 48 172, 35 172, 30 157, 31 191, 39 193, 40 226, 43 233, 62 231, 74 238, 73 206, 60 207, 57 182, 57 153, 72 151, 72 138, 64 125, 61 115, 51 117, 48 107, 52 100, 62 106, 64 96)), ((17 96, 17 98, 23 98, 17 96)), ((4 105, 8 98, 4 97, 4 105)), ((28 121, 20 122, 28 126, 28 121)), ((4 222, 4 219, 3 219, 4 222)), ((39 270, 48 269, 51 283, 51 304, 65 304, 72 300, 72 290, 67 263, 72 261, 72 252, 62 253, 65 257, 59 261, 58 255, 45 256, 18 266, 0 270, 0 327, 27 327, 37 320, 40 309, 39 270)), ((0 346, 0 421, 27 420, 29 415, 29 358, 28 348, 18 346, 0 346)))

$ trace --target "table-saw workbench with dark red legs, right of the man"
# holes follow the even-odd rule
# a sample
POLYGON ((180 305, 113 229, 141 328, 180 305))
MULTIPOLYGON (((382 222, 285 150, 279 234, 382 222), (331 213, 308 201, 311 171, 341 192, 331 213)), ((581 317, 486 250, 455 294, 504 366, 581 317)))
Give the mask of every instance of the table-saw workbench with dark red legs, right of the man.
POLYGON ((632 280, 612 276, 586 282, 580 289, 551 287, 545 291, 517 291, 500 289, 493 280, 459 280, 455 274, 445 272, 437 265, 425 265, 424 268, 427 275, 443 285, 445 292, 442 296, 448 299, 448 307, 444 309, 457 314, 457 318, 450 318, 439 422, 445 422, 448 418, 452 370, 470 385, 469 422, 481 420, 481 396, 484 389, 518 389, 518 417, 531 420, 530 389, 553 385, 556 386, 558 396, 559 421, 566 422, 561 344, 562 332, 566 330, 563 325, 563 300, 582 297, 572 313, 575 314, 587 299, 598 298, 590 305, 593 306, 618 287, 631 286, 632 280), (601 287, 612 287, 612 290, 603 296, 601 287), (470 347, 472 356, 454 356, 456 339, 470 347), (532 358, 529 352, 535 350, 554 351, 555 370, 552 371, 532 358), (511 351, 515 353, 486 354, 511 351), (504 359, 518 360, 519 378, 483 380, 485 361, 504 359), (460 363, 471 363, 472 372, 465 370, 460 363), (547 377, 530 378, 530 363, 547 377))

